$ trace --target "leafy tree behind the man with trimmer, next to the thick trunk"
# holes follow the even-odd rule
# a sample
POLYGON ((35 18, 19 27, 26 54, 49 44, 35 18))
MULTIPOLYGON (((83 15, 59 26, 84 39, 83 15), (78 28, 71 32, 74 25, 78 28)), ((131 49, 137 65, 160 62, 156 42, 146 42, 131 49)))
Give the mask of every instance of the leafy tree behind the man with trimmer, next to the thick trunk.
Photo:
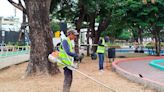
MULTIPOLYGON (((59 0, 58 0, 59 1, 59 0)), ((75 29, 80 32, 81 25, 85 15, 85 2, 84 0, 62 0, 58 3, 54 2, 51 6, 51 13, 59 20, 64 20, 69 23, 73 23, 75 29), (58 5, 55 8, 54 5, 58 5)), ((75 41, 75 51, 79 53, 78 38, 75 41)))

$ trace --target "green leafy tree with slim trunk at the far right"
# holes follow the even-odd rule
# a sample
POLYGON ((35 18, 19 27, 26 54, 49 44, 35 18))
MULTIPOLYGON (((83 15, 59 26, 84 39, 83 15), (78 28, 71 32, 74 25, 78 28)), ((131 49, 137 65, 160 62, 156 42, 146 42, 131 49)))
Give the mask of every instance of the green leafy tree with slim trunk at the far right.
MULTIPOLYGON (((160 55, 160 32, 164 27, 164 4, 162 0, 126 1, 127 19, 138 27, 139 34, 149 31, 154 35, 156 54, 160 55)), ((128 21, 129 22, 129 21, 128 21)))

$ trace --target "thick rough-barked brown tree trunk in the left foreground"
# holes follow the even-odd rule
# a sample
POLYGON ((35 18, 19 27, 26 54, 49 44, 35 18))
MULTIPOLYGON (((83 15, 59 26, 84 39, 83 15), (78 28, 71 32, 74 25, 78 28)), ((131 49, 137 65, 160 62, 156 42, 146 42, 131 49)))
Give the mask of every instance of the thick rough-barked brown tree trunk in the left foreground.
POLYGON ((25 0, 31 40, 27 75, 59 72, 57 65, 48 62, 47 58, 53 51, 52 31, 49 24, 50 2, 51 0, 25 0))

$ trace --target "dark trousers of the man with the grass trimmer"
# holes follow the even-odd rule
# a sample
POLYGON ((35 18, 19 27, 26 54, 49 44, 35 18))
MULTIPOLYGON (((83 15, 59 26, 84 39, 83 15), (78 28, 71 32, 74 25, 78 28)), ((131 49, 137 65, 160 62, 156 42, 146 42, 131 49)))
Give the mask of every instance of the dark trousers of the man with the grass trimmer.
POLYGON ((72 84, 72 70, 67 67, 64 69, 64 84, 63 84, 63 92, 70 92, 71 84, 72 84))

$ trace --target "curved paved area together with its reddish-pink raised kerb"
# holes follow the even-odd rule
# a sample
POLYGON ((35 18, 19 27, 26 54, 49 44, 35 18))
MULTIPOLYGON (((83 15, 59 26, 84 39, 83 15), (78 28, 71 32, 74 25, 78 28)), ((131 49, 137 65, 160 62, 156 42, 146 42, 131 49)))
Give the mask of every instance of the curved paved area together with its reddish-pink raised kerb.
POLYGON ((164 71, 149 65, 151 60, 164 59, 164 56, 148 56, 142 58, 126 58, 112 63, 114 70, 131 81, 145 87, 164 92, 164 71))

